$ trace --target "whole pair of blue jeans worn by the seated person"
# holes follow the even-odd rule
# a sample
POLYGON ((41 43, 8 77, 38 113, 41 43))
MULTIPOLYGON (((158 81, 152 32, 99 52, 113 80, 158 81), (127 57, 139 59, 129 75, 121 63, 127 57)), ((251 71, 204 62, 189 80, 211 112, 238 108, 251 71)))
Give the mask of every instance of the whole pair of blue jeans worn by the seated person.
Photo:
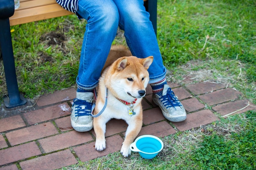
POLYGON ((143 0, 79 0, 77 13, 87 24, 76 78, 78 88, 90 90, 97 86, 118 26, 124 30, 132 55, 154 56, 148 69, 149 83, 165 77, 157 38, 143 4, 143 0))

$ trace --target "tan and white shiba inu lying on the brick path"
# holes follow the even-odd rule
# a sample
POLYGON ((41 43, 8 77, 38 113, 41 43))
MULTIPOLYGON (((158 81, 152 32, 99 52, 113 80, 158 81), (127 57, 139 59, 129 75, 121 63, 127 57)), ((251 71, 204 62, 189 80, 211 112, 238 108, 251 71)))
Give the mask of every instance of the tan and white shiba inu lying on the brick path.
POLYGON ((110 50, 99 79, 99 92, 93 113, 95 149, 98 151, 106 149, 106 123, 112 118, 126 121, 128 128, 121 147, 124 157, 131 154, 129 146, 141 130, 141 100, 146 95, 149 81, 147 70, 153 62, 153 56, 140 59, 129 55, 130 51, 124 46, 113 46, 110 50))

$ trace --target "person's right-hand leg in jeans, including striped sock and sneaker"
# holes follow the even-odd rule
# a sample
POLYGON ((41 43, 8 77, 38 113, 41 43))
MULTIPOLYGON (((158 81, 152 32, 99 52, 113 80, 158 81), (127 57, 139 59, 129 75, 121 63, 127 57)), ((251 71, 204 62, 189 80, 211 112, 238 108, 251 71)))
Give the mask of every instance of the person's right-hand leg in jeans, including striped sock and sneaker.
POLYGON ((113 1, 119 10, 119 27, 124 30, 126 42, 132 55, 139 58, 150 55, 154 57, 154 61, 148 69, 153 101, 161 108, 166 119, 170 121, 185 120, 184 107, 166 83, 166 68, 163 65, 152 23, 149 20, 149 13, 143 6, 143 0, 113 1))

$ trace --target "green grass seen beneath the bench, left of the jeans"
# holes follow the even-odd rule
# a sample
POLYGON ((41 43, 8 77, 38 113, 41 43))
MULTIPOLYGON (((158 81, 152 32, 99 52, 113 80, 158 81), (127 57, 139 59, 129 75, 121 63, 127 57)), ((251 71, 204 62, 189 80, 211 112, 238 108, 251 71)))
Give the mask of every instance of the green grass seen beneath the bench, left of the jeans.
MULTIPOLYGON (((11 26, 18 85, 25 97, 75 85, 85 23, 70 15, 11 26), (64 35, 65 41, 49 45, 49 33, 64 35)), ((4 79, 0 87, 2 97, 7 94, 4 79)))

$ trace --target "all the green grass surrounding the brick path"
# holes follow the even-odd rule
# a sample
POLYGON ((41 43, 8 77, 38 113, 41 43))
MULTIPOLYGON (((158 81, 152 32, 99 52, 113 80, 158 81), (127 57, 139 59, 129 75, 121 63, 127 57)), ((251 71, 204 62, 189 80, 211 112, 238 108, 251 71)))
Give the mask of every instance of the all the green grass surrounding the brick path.
MULTIPOLYGON (((235 88, 256 104, 256 3, 254 0, 158 0, 157 39, 168 79, 215 81, 235 88)), ((85 20, 76 16, 12 26, 20 91, 34 99, 75 86, 85 20), (65 41, 48 44, 49 33, 65 41)), ((113 44, 125 44, 118 35, 113 44)), ((7 94, 0 61, 0 97, 7 94)), ((153 160, 119 152, 62 168, 85 169, 256 169, 256 111, 162 138, 153 160)), ((71 148, 72 149, 72 148, 71 148)))

